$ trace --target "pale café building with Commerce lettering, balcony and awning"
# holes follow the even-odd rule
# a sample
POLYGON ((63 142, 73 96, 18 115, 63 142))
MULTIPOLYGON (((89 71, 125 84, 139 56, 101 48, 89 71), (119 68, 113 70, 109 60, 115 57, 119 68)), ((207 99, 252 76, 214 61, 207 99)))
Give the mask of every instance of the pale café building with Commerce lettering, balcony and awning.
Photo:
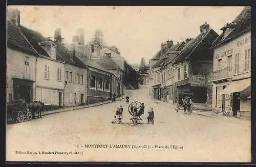
POLYGON ((221 30, 223 33, 212 43, 214 49, 214 75, 212 107, 222 110, 231 107, 251 111, 251 9, 246 7, 221 30))

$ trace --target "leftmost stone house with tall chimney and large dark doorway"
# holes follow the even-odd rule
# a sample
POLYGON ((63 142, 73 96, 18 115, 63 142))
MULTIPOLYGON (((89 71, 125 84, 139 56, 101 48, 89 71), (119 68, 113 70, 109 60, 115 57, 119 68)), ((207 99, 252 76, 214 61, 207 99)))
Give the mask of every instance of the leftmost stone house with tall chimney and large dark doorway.
POLYGON ((6 48, 6 101, 36 99, 38 53, 19 31, 19 11, 8 11, 6 48))

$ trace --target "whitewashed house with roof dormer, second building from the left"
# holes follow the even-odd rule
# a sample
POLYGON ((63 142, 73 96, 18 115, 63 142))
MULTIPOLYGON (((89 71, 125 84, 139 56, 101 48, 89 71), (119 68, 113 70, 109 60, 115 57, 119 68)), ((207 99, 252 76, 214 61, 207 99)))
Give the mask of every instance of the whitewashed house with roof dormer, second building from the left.
POLYGON ((19 26, 20 31, 38 53, 36 61, 36 100, 49 108, 63 106, 65 61, 57 54, 57 46, 39 32, 19 26))

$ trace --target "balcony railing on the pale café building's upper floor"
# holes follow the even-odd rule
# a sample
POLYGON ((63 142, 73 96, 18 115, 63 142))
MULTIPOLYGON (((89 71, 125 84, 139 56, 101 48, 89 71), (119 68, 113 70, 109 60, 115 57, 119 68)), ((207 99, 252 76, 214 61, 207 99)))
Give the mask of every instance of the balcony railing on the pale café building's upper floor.
POLYGON ((212 81, 218 81, 218 80, 224 80, 224 79, 232 79, 233 76, 233 68, 223 68, 221 70, 214 71, 214 78, 212 78, 212 81))

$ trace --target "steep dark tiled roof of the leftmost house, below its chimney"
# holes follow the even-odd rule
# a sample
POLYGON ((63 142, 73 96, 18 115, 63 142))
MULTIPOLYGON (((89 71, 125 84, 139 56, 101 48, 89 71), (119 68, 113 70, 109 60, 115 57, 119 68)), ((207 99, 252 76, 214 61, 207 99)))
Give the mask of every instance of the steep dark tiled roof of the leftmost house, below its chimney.
POLYGON ((7 46, 37 54, 22 33, 20 33, 18 27, 13 26, 9 20, 7 20, 7 46))

